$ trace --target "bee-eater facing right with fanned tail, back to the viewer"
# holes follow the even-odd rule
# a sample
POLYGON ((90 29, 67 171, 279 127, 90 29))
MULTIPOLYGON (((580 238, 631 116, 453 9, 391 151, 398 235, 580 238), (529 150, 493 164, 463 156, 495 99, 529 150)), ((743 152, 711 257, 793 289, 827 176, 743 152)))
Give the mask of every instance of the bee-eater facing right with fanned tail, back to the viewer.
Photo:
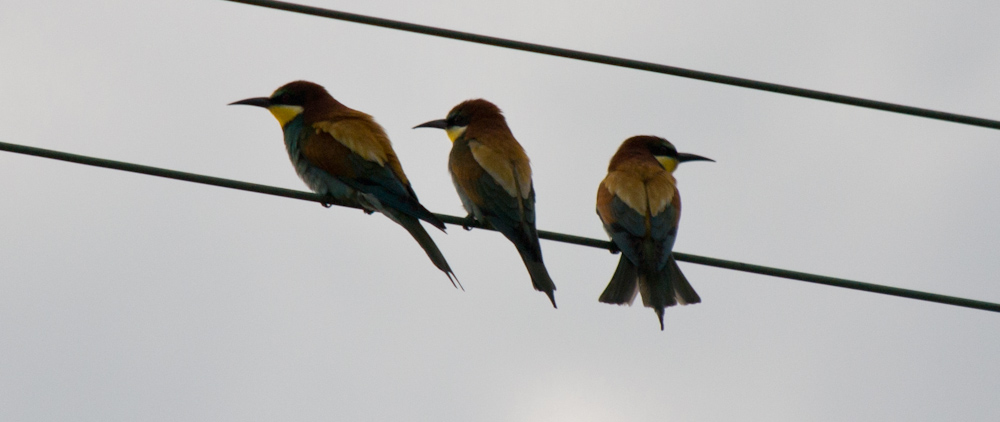
POLYGON ((663 330, 663 308, 701 302, 684 278, 671 251, 681 217, 681 197, 673 172, 685 161, 714 161, 678 153, 666 139, 633 136, 626 139, 608 165, 597 188, 597 215, 622 252, 618 269, 600 301, 642 304, 656 311, 663 330))

